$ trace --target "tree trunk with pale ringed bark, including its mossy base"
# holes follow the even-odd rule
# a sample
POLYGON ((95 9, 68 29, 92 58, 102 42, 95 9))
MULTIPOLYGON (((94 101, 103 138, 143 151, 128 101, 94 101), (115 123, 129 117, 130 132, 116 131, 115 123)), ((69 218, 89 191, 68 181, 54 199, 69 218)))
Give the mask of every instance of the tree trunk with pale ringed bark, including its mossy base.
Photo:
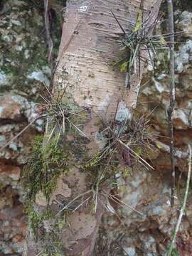
MULTIPOLYGON (((160 4, 161 0, 144 1, 149 33, 160 4)), ((24 255, 93 255, 105 210, 105 197, 98 192, 95 172, 105 166, 92 169, 93 164, 87 163, 105 146, 101 130, 113 119, 119 122, 131 119, 132 109, 137 105, 144 62, 137 60, 137 73, 131 76, 130 89, 124 85, 125 74, 113 64, 124 57, 119 46, 122 28, 126 33, 132 32, 139 6, 137 0, 68 1, 53 81, 54 98, 64 90, 62 99, 58 99, 68 108, 65 136, 60 135, 58 142, 65 151, 66 171, 58 177, 49 201, 40 191, 36 194, 33 203, 36 218, 33 214, 30 221, 31 225, 37 224, 34 223, 37 218, 41 222, 38 221, 36 235, 29 225, 24 255), (52 214, 42 217, 48 208, 52 214)), ((143 52, 141 55, 146 56, 143 52)), ((55 137, 61 134, 59 129, 55 130, 49 124, 46 138, 51 137, 51 131, 55 137)), ((53 139, 44 139, 44 148, 50 141, 53 139)), ((109 182, 101 186, 110 191, 109 182)))

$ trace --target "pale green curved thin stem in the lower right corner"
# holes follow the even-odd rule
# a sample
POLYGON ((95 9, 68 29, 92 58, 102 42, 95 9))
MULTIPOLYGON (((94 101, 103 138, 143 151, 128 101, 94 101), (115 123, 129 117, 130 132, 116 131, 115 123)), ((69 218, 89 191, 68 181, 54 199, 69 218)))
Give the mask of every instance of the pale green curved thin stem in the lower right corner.
POLYGON ((186 182, 186 192, 185 192, 185 196, 183 199, 183 206, 181 207, 179 216, 178 216, 178 220, 176 223, 176 228, 174 230, 174 234, 173 237, 171 239, 171 245, 169 246, 169 250, 166 253, 166 256, 171 256, 172 250, 174 249, 174 245, 176 242, 176 235, 178 233, 178 228, 181 224, 181 220, 183 217, 183 213, 186 209, 186 201, 187 201, 187 197, 188 197, 188 188, 189 188, 189 183, 190 183, 190 179, 191 179, 191 158, 192 158, 192 149, 191 149, 191 145, 188 145, 188 151, 189 151, 189 157, 188 157, 188 176, 187 176, 187 182, 186 182))

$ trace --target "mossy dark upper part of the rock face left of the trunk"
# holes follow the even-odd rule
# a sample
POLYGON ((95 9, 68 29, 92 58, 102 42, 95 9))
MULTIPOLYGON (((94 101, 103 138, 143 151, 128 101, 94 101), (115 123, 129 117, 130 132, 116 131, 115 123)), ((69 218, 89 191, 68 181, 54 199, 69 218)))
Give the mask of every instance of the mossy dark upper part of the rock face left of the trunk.
POLYGON ((0 92, 14 90, 36 98, 49 85, 50 69, 43 31, 43 15, 26 1, 4 1, 1 6, 0 92))

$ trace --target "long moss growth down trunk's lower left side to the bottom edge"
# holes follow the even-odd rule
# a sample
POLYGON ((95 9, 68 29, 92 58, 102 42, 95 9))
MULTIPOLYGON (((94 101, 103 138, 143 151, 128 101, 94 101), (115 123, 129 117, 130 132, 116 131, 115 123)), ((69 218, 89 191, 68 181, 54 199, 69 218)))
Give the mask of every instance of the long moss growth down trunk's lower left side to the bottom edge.
MULTIPOLYGON (((57 186, 58 177, 68 172, 68 157, 70 152, 57 142, 55 137, 46 146, 43 146, 43 136, 35 137, 31 156, 28 164, 23 170, 23 187, 26 190, 26 213, 28 215, 28 226, 35 240, 40 241, 44 247, 45 255, 62 255, 60 242, 55 238, 53 230, 57 230, 58 220, 49 204, 44 210, 36 205, 36 195, 39 192, 46 196, 49 202, 51 193, 57 186), (46 220, 50 222, 50 230, 44 227, 46 220)), ((59 233, 59 231, 58 231, 59 233)), ((57 234, 58 234, 57 233, 57 234)))

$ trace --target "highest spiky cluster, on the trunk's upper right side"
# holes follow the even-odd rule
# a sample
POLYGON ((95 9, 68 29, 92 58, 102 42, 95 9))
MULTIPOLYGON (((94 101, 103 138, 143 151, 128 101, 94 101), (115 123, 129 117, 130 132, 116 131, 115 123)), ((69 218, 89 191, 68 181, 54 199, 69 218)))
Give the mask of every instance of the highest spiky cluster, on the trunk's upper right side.
POLYGON ((151 31, 156 24, 161 21, 159 21, 159 18, 156 18, 154 23, 150 24, 151 10, 144 9, 143 1, 141 1, 139 6, 137 20, 135 23, 132 22, 134 25, 131 24, 131 33, 126 32, 126 29, 122 27, 113 12, 112 15, 122 30, 119 43, 120 48, 124 52, 124 57, 114 65, 120 64, 120 70, 126 73, 125 86, 129 87, 130 77, 132 74, 137 73, 138 65, 140 76, 141 62, 146 63, 148 61, 154 68, 153 56, 157 58, 156 50, 169 49, 169 42, 166 41, 166 39, 170 37, 170 33, 160 35, 151 34, 151 31), (143 54, 142 52, 146 52, 146 54, 143 54))

